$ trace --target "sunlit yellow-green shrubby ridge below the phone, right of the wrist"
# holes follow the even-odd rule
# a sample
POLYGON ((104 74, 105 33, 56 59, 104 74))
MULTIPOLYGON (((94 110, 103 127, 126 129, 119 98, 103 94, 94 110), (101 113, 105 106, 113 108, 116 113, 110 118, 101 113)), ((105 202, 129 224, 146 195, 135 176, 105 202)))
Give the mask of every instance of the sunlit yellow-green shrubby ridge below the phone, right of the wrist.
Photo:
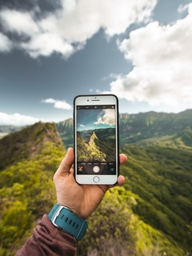
POLYGON ((124 187, 109 190, 88 218, 89 229, 78 245, 77 255, 185 255, 165 234, 133 213, 138 200, 138 195, 124 187))

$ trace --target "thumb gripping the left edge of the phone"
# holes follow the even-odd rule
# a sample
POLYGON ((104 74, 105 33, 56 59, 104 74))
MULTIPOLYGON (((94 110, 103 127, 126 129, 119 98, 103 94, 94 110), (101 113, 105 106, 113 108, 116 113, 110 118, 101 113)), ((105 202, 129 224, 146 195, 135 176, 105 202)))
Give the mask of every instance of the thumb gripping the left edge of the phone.
POLYGON ((69 148, 67 150, 65 158, 62 159, 62 162, 58 167, 58 170, 56 171, 55 175, 69 174, 70 169, 73 166, 73 163, 74 163, 74 150, 72 148, 69 148))

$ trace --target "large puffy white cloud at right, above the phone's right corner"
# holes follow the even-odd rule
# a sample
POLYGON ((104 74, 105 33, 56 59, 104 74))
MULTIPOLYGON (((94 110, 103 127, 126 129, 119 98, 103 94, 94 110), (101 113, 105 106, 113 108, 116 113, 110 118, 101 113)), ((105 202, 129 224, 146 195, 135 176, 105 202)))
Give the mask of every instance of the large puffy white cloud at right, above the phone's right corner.
POLYGON ((192 3, 172 26, 151 22, 118 42, 133 70, 110 83, 119 98, 150 105, 192 102, 192 3))

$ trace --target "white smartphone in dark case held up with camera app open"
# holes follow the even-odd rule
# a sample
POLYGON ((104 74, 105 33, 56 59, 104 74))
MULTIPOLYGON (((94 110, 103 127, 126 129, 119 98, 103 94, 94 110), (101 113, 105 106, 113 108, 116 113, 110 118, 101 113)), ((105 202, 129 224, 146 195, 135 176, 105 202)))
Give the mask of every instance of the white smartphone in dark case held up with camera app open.
POLYGON ((78 184, 114 185, 119 174, 118 98, 74 98, 74 177, 78 184))

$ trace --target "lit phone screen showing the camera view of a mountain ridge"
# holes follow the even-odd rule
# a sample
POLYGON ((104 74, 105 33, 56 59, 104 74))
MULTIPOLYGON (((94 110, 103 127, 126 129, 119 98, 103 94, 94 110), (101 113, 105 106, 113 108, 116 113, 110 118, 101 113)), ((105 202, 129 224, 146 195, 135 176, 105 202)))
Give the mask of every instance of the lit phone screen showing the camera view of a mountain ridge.
POLYGON ((77 174, 117 175, 115 105, 76 106, 77 174))

